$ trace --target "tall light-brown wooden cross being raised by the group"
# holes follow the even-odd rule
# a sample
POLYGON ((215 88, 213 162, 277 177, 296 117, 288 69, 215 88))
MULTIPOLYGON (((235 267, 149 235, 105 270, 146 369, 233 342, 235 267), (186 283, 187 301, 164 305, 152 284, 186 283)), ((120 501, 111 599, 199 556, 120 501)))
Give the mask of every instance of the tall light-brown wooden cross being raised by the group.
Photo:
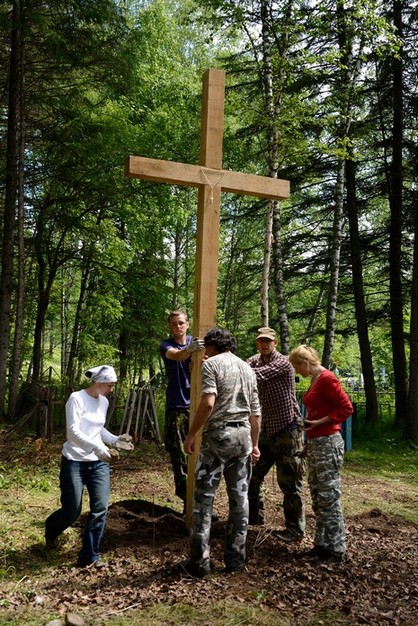
MULTIPOLYGON (((159 183, 197 187, 198 213, 196 270, 193 308, 193 336, 203 337, 216 325, 218 289, 219 216, 221 191, 281 200, 289 197, 286 180, 242 174, 222 169, 222 140, 225 98, 225 72, 209 69, 203 77, 202 122, 199 165, 173 163, 158 159, 129 156, 125 175, 159 183)), ((200 399, 200 361, 194 353, 191 380, 190 420, 200 399)), ((189 457, 187 478, 186 524, 190 528, 197 450, 189 457)))

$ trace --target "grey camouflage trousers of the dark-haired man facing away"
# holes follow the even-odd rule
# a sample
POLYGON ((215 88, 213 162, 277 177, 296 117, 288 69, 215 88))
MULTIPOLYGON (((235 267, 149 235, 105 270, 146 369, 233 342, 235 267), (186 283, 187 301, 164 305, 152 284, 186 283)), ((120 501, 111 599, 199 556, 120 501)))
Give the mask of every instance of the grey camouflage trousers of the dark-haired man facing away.
POLYGON ((222 476, 225 477, 229 500, 224 547, 225 566, 230 570, 239 570, 244 566, 251 450, 249 425, 225 426, 203 433, 196 464, 190 534, 190 562, 201 571, 209 571, 213 501, 222 476))

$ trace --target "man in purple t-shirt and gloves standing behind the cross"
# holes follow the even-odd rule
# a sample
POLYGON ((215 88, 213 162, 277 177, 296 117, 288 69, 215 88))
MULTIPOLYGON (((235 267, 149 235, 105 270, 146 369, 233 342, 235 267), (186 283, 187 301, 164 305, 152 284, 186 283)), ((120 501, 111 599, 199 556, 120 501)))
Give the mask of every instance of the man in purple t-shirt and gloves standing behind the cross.
POLYGON ((176 496, 183 503, 187 493, 187 457, 183 443, 189 429, 190 355, 205 347, 203 339, 187 334, 189 318, 183 311, 168 316, 171 337, 160 344, 167 375, 165 405, 165 447, 170 454, 176 496))

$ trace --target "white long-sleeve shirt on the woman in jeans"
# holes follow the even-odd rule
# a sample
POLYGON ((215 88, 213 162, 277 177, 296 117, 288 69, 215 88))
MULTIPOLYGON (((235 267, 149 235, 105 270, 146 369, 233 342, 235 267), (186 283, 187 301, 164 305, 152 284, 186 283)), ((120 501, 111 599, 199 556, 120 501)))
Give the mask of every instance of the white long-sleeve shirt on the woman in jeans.
POLYGON ((109 401, 105 396, 93 398, 84 389, 70 395, 65 405, 67 441, 62 454, 70 461, 97 461, 94 448, 112 445, 117 435, 105 427, 109 401))

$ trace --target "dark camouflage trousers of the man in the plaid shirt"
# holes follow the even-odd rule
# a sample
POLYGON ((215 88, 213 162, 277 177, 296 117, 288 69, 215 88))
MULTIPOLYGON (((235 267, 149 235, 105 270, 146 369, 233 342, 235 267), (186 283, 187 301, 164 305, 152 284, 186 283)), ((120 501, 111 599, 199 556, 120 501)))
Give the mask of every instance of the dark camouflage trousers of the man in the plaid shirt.
POLYGON ((262 486, 273 465, 277 482, 283 493, 283 513, 286 528, 296 536, 305 532, 305 507, 303 501, 303 474, 305 461, 300 458, 303 434, 299 429, 279 433, 274 437, 260 437, 260 460, 253 468, 249 488, 250 524, 264 524, 264 499, 262 486))

